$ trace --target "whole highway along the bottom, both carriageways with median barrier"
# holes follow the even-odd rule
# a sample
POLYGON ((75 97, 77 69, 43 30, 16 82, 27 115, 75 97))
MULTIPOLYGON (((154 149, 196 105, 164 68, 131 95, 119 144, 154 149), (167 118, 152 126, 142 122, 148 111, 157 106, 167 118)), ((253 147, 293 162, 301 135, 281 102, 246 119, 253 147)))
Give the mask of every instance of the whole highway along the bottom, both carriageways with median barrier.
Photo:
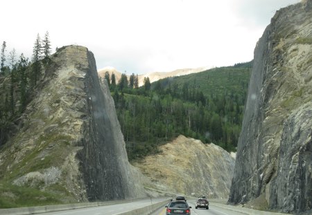
MULTIPOLYGON (((169 198, 147 198, 141 200, 134 200, 132 202, 116 201, 110 203, 111 205, 95 206, 95 207, 73 207, 73 205, 55 205, 54 210, 43 207, 29 207, 29 208, 17 208, 17 209, 0 209, 0 214, 2 215, 16 215, 16 214, 41 214, 41 215, 141 215, 148 214, 148 212, 155 211, 150 215, 165 215, 166 207, 164 207, 164 202, 168 203, 169 198), (159 208, 160 205, 163 205, 159 208), (42 209, 43 208, 43 209, 42 209), (55 210, 56 208, 67 210, 55 210), (69 209, 71 208, 71 209, 69 209), (76 208, 76 209, 75 209, 76 208), (159 208, 159 209, 158 209, 159 208), (49 209, 49 210, 48 210, 49 209), (51 211, 45 212, 44 211, 51 211), (52 212, 53 211, 53 212, 52 212)), ((211 200, 209 203, 209 209, 196 209, 195 199, 187 200, 187 203, 192 207, 191 215, 243 215, 243 214, 266 214, 266 215, 282 215, 281 213, 273 212, 261 212, 253 209, 248 209, 244 207, 234 207, 231 205, 225 205, 224 200, 211 200)), ((96 204, 98 205, 98 204, 96 204)))

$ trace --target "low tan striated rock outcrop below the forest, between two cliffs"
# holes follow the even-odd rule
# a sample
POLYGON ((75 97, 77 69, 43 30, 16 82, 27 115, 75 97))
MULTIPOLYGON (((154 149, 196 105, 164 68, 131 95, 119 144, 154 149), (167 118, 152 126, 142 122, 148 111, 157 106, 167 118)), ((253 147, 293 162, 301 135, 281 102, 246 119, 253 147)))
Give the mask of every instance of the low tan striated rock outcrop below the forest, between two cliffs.
POLYGON ((228 198, 235 160, 227 151, 183 135, 159 149, 162 153, 133 164, 146 176, 145 187, 169 195, 228 198))

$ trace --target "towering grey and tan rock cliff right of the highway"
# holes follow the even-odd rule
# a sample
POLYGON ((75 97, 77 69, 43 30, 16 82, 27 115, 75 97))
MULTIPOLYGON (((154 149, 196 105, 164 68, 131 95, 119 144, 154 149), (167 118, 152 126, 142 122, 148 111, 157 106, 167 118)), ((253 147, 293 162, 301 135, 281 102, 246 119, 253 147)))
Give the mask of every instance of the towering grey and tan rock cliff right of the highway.
POLYGON ((312 206, 312 1, 282 8, 254 50, 229 203, 312 206))

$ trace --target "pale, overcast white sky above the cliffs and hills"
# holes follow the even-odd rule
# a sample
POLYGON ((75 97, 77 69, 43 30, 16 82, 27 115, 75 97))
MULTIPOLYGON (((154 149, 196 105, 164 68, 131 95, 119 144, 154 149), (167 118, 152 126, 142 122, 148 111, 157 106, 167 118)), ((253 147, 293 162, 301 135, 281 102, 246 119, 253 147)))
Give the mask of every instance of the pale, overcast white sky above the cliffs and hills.
POLYGON ((2 0, 0 42, 31 59, 37 34, 52 53, 87 47, 98 69, 128 75, 232 66, 254 47, 279 8, 300 0, 2 0))

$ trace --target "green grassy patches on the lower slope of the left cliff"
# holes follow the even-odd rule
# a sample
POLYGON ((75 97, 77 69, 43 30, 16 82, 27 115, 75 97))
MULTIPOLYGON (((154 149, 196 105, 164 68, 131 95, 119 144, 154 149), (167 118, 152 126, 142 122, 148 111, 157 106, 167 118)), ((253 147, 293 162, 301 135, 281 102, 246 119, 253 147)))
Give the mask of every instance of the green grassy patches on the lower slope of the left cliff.
MULTIPOLYGON (((59 183, 47 186, 44 180, 37 180, 33 185, 12 184, 15 179, 30 172, 42 172, 49 167, 62 165, 66 155, 71 151, 70 138, 58 133, 41 135, 35 142, 35 148, 31 149, 20 162, 15 162, 13 157, 8 155, 2 167, 7 167, 9 164, 12 166, 10 174, 2 175, 3 178, 1 177, 0 180, 0 208, 75 203, 73 194, 59 183)), ((21 151, 17 147, 14 150, 21 151)), ((6 169, 0 169, 0 174, 3 172, 6 172, 6 169)))

